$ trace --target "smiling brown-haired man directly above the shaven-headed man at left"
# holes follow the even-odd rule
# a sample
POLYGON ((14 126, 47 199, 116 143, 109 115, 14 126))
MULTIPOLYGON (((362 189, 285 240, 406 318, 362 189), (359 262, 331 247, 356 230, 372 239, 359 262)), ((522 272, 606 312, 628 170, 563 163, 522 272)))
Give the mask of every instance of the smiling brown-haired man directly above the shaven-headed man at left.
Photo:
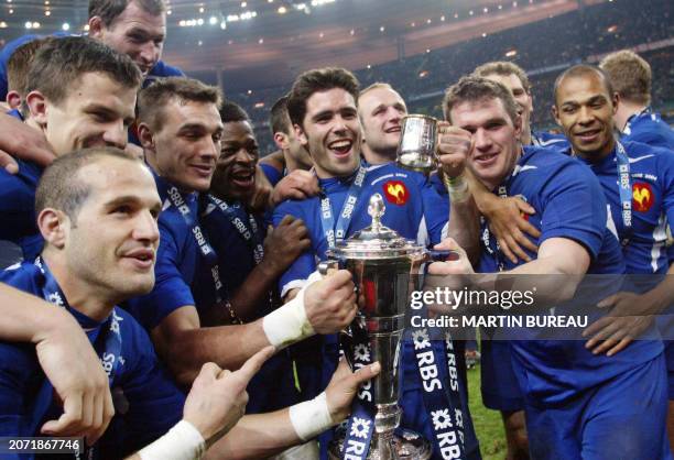
MULTIPOLYGON (((41 47, 26 77, 25 123, 56 155, 75 149, 127 144, 141 74, 131 59, 91 39, 65 37, 41 47), (39 133, 36 132, 39 135, 39 133)), ((0 171, 0 239, 19 244, 24 260, 42 249, 34 198, 43 168, 19 161, 19 174, 0 171)))

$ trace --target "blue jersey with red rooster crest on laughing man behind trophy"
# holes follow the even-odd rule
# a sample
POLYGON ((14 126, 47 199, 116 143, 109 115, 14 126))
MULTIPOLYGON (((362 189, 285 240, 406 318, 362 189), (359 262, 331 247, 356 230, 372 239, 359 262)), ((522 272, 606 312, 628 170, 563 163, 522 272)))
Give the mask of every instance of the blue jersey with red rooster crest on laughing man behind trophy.
MULTIPOLYGON (((320 187, 330 197, 335 220, 337 220, 337 216, 339 216, 344 200, 346 199, 355 176, 356 175, 352 175, 346 179, 319 179, 320 187)), ((368 202, 371 195, 379 193, 384 198, 384 205, 387 207, 382 218, 383 224, 398 231, 404 238, 423 241, 424 243, 428 243, 428 239, 431 239, 432 243, 437 243, 442 238, 441 234, 443 232, 446 233, 447 217, 449 212, 449 200, 446 191, 443 190, 444 185, 442 183, 437 182, 434 185, 427 184, 423 175, 402 169, 393 163, 370 166, 365 176, 363 188, 354 209, 352 220, 346 232, 346 238, 349 238, 356 231, 371 223, 371 218, 367 213, 368 202), (394 195, 395 190, 404 191, 398 191, 399 195, 394 195), (396 200, 395 198, 399 199, 396 200), (426 207, 432 208, 432 210, 426 211, 426 207)), ((274 210, 274 224, 278 224, 285 215, 301 218, 307 226, 312 240, 312 249, 302 254, 282 277, 280 285, 282 288, 285 287, 286 291, 298 285, 294 284, 294 282, 303 281, 308 277, 315 270, 316 260, 326 259, 325 252, 328 249, 328 242, 323 231, 319 212, 320 197, 307 198, 302 201, 289 200, 274 210)), ((297 366, 301 373, 302 384, 307 383, 302 379, 302 365, 305 362, 311 362, 308 365, 319 368, 318 373, 320 375, 309 377, 318 379, 320 381, 319 387, 324 387, 325 384, 327 384, 336 368, 338 349, 337 337, 335 335, 320 336, 320 339, 318 343, 313 341, 313 351, 316 353, 323 347, 322 362, 316 362, 315 360, 305 361, 307 360, 307 355, 298 353, 297 366)), ((300 346, 304 344, 304 342, 300 343, 300 346)), ((403 347, 403 359, 401 360, 400 370, 402 380, 401 391, 404 396, 401 398, 400 404, 403 409, 403 426, 418 430, 428 439, 433 440, 432 419, 424 406, 421 377, 418 375, 418 369, 416 368, 411 342, 407 340, 406 343, 401 344, 401 347, 403 347)), ((463 350, 463 348, 460 350, 463 350)), ((457 361, 459 366, 463 365, 461 357, 458 357, 457 361)), ((447 376, 448 370, 444 366, 439 369, 443 375, 445 375, 446 381, 449 381, 447 376)), ((459 372, 465 375, 465 369, 459 372)), ((459 377, 459 380, 464 382, 463 377, 459 377)), ((309 385, 311 384, 312 383, 309 383, 309 385)), ((460 397, 461 401, 458 408, 463 410, 465 416, 465 425, 463 426, 465 434, 465 450, 468 456, 467 458, 476 459, 479 458, 479 447, 470 421, 465 387, 461 387, 460 397)), ((320 438, 323 448, 322 458, 326 456, 324 447, 329 437, 329 435, 324 435, 320 438)), ((441 453, 437 449, 434 451, 433 458, 441 458, 441 453)))

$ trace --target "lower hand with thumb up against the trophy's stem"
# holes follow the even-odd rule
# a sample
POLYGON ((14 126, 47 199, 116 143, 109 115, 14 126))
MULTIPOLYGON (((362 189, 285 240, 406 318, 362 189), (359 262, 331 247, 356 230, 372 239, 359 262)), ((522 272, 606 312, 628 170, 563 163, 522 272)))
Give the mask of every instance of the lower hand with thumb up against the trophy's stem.
POLYGON ((358 393, 358 387, 379 374, 380 371, 381 365, 379 362, 373 362, 352 372, 344 358, 339 361, 339 365, 325 390, 328 409, 334 423, 338 424, 348 417, 351 413, 351 402, 358 393))

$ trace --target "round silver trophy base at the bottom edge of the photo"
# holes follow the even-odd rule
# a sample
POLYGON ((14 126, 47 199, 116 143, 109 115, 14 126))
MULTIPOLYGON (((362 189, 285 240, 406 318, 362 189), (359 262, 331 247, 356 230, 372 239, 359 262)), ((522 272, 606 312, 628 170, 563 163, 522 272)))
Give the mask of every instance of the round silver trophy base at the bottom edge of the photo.
MULTIPOLYGON (((399 429, 395 434, 372 435, 368 460, 427 460, 431 458, 431 442, 421 435, 399 429), (400 432, 400 435, 398 434, 400 432)), ((344 450, 344 429, 337 429, 335 439, 328 446, 328 459, 339 460, 344 450)))

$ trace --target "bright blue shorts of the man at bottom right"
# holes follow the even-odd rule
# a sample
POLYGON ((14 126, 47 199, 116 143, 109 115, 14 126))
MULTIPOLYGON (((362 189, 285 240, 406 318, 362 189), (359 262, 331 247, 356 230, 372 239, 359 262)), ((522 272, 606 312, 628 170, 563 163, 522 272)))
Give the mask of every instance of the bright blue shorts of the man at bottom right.
POLYGON ((672 459, 662 354, 563 406, 540 407, 529 398, 525 406, 533 459, 672 459))

